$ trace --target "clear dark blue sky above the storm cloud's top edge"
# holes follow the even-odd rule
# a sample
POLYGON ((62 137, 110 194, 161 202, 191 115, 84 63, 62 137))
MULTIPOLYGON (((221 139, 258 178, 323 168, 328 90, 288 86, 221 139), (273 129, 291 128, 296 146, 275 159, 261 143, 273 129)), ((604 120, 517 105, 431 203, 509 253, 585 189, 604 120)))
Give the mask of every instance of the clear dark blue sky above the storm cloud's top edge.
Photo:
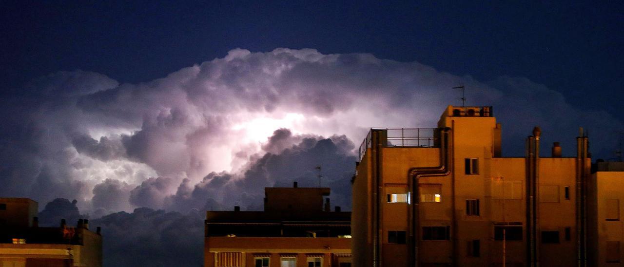
POLYGON ((572 104, 624 119, 619 1, 159 2, 2 2, 0 83, 21 87, 75 69, 142 82, 236 47, 309 47, 418 61, 486 81, 527 77, 572 104))

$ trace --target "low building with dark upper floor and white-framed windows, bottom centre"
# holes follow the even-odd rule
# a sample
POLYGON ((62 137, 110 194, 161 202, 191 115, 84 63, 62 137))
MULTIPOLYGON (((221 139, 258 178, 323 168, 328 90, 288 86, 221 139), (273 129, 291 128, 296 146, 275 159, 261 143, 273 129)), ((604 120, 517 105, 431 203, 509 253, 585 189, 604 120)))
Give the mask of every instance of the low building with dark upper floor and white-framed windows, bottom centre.
POLYGON ((295 182, 265 188, 264 211, 207 211, 204 266, 351 266, 351 212, 329 193, 295 182))

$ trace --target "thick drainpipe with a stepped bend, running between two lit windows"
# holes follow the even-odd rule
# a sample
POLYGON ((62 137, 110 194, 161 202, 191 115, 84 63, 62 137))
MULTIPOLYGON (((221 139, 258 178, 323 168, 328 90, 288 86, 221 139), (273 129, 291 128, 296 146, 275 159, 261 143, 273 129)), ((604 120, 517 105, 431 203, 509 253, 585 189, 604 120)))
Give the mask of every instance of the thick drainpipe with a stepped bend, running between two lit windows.
MULTIPOLYGON (((451 173, 451 168, 449 165, 449 153, 452 152, 452 148, 449 147, 449 132, 451 132, 451 128, 441 129, 439 135, 441 136, 440 140, 440 165, 437 167, 414 167, 410 168, 407 172, 407 180, 409 183, 409 187, 411 188, 411 208, 409 209, 409 215, 407 216, 407 225, 409 226, 409 266, 418 266, 419 265, 419 251, 418 251, 418 241, 419 238, 419 226, 420 226, 420 216, 419 216, 419 187, 418 180, 421 177, 436 177, 436 176, 447 176, 451 173)), ((454 259, 455 260, 455 259, 454 259)))

